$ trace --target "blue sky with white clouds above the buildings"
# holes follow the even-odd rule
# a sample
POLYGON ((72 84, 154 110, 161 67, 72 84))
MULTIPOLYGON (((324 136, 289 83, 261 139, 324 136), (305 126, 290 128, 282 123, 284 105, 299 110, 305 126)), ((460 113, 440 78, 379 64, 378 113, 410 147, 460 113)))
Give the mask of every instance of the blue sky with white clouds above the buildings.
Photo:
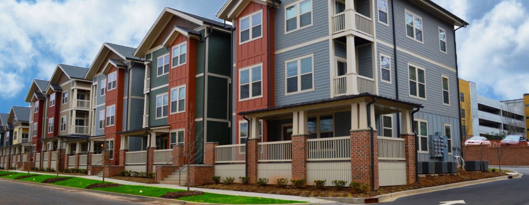
MULTIPOLYGON (((433 1, 470 23, 456 33, 462 79, 495 100, 529 93, 529 0, 433 1)), ((59 63, 88 67, 104 42, 138 46, 164 7, 215 19, 224 2, 0 0, 0 112, 28 106, 32 79, 59 63)))

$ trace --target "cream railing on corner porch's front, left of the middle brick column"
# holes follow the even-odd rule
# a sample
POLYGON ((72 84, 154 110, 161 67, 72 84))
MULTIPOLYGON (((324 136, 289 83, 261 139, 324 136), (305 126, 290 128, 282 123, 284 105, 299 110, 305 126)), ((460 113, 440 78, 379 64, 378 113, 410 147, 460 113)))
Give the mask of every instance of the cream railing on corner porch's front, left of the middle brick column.
POLYGON ((259 142, 258 162, 292 161, 292 141, 259 142))

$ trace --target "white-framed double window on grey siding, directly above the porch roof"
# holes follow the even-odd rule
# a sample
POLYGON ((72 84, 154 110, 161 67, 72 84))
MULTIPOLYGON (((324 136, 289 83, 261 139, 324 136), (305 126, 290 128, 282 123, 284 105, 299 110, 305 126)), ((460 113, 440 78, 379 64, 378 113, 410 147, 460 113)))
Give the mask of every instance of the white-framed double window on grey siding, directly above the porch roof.
POLYGON ((314 90, 313 54, 285 62, 286 94, 314 90))

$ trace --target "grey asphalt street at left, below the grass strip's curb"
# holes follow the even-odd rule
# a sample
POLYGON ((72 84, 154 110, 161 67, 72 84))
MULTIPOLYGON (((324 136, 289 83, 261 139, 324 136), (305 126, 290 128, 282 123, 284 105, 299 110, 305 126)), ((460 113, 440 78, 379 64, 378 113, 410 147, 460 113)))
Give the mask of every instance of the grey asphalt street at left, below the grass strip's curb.
POLYGON ((75 190, 43 187, 36 184, 26 184, 0 180, 0 204, 80 204, 80 205, 154 205, 166 204, 159 202, 147 202, 137 199, 123 197, 110 197, 101 194, 80 192, 75 190))

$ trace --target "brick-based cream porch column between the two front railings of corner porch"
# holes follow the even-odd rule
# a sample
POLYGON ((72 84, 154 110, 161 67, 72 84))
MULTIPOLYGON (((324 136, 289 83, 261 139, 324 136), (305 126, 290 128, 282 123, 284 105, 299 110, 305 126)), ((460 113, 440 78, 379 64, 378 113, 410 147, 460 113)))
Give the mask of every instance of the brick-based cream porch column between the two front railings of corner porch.
POLYGON ((293 113, 293 134, 291 145, 292 179, 307 179, 307 111, 293 113))

